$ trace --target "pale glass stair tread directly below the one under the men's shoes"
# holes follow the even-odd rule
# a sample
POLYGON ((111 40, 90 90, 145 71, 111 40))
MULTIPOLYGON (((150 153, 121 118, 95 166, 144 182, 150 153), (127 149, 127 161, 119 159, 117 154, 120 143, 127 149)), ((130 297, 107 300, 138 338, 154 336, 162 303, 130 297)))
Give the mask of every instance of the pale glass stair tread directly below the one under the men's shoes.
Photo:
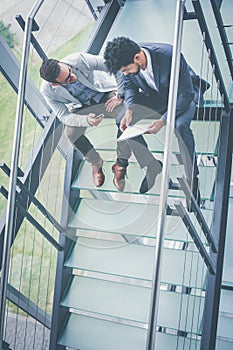
MULTIPOLYGON (((156 237, 159 207, 147 203, 130 203, 120 201, 104 201, 97 199, 82 199, 76 212, 73 213, 69 227, 79 230, 127 234, 137 238, 156 237), (91 219, 91 220, 90 220, 91 219)), ((204 210, 203 215, 210 225, 212 212, 204 210)), ((196 223, 194 214, 192 220, 196 223)), ((203 242, 205 238, 200 226, 195 224, 203 242)), ((167 216, 165 239, 177 241, 192 241, 178 216, 167 216)))

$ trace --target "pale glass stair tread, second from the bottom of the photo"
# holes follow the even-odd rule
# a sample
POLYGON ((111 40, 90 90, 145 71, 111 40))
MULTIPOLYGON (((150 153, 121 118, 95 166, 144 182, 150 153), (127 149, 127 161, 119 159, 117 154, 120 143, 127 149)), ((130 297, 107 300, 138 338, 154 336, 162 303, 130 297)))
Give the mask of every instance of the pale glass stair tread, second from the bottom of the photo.
MULTIPOLYGON (((102 279, 75 276, 62 305, 78 310, 125 320, 147 323, 151 289, 102 279)), ((158 325, 197 333, 199 312, 204 299, 200 296, 160 291, 158 325), (192 309, 192 314, 180 315, 180 310, 192 309), (167 317, 167 310, 170 316, 167 317), (195 330, 196 327, 196 330, 195 330)))

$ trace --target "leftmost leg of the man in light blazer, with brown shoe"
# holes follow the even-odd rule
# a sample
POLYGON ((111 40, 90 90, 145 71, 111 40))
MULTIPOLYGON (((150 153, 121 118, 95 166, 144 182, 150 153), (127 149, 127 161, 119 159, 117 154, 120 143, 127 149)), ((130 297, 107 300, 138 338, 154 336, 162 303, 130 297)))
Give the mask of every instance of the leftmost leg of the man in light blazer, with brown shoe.
POLYGON ((85 159, 92 164, 93 182, 96 187, 100 187, 105 180, 102 170, 103 159, 84 135, 85 130, 86 128, 84 127, 66 126, 65 133, 70 142, 83 154, 85 159))

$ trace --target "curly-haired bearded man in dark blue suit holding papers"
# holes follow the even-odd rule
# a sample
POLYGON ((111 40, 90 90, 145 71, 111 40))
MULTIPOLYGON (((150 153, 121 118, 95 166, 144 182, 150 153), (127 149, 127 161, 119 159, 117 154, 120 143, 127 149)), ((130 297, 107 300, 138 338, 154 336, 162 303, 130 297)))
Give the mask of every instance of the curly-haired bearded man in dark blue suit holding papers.
MULTIPOLYGON (((129 38, 118 37, 107 43, 104 59, 110 73, 115 74, 120 70, 124 74, 125 110, 118 118, 118 136, 129 125, 145 118, 155 119, 149 125, 148 133, 156 134, 167 120, 172 46, 156 43, 139 45, 129 38)), ((199 171, 190 123, 196 105, 203 104, 203 93, 208 88, 209 84, 195 74, 181 54, 175 131, 187 180, 198 203, 199 171)), ((142 136, 124 142, 120 150, 112 169, 116 187, 124 189, 126 167, 132 150, 141 168, 147 167, 140 187, 141 193, 147 192, 161 172, 162 163, 153 157, 142 136)))

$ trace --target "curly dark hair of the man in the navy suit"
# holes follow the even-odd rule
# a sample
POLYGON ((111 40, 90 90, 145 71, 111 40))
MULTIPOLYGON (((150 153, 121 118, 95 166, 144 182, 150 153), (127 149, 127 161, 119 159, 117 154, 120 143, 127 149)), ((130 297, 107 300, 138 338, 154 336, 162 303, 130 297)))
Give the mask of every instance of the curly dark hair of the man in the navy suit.
POLYGON ((140 46, 123 36, 108 41, 104 62, 110 73, 116 74, 123 67, 134 62, 134 56, 141 51, 140 46))

